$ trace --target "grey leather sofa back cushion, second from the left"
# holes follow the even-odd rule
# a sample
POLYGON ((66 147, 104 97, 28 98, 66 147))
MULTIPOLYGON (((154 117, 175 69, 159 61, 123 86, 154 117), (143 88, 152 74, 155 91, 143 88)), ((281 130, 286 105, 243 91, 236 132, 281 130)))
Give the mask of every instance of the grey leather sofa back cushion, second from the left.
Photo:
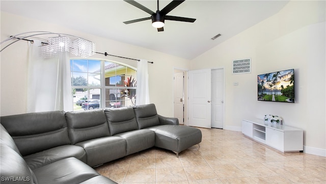
POLYGON ((110 136, 102 109, 67 112, 66 118, 72 144, 110 136))

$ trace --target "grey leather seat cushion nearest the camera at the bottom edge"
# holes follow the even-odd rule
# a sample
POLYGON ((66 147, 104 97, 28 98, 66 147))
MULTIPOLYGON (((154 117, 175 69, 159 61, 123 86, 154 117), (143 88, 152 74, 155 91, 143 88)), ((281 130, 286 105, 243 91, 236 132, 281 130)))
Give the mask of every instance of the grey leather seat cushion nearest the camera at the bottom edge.
POLYGON ((100 175, 84 162, 70 157, 34 170, 38 183, 80 183, 100 175))

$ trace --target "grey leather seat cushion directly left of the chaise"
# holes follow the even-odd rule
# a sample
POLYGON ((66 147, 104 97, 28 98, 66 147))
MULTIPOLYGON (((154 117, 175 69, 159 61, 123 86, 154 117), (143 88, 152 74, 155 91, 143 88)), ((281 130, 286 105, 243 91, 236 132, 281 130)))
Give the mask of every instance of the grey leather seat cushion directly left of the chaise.
POLYGON ((124 132, 115 136, 126 140, 126 155, 134 154, 155 145, 155 133, 147 129, 124 132))

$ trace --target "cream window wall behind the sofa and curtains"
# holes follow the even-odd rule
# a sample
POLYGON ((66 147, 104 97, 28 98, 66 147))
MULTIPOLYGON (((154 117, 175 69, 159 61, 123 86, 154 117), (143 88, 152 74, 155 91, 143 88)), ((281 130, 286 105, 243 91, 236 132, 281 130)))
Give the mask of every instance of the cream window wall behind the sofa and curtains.
MULTIPOLYGON (((142 47, 129 45, 94 35, 77 32, 59 25, 49 24, 34 19, 1 12, 1 41, 11 35, 44 30, 48 32, 75 35, 96 43, 97 52, 120 55, 130 58, 143 58, 154 62, 149 64, 150 102, 156 105, 161 115, 173 116, 173 69, 189 69, 189 60, 157 52, 142 47)), ((1 45, 3 48, 4 45, 1 45)), ((27 56, 28 42, 19 41, 1 52, 1 115, 26 112, 27 94, 27 56)), ((115 60, 137 67, 137 61, 121 59, 101 54, 95 58, 115 60)))

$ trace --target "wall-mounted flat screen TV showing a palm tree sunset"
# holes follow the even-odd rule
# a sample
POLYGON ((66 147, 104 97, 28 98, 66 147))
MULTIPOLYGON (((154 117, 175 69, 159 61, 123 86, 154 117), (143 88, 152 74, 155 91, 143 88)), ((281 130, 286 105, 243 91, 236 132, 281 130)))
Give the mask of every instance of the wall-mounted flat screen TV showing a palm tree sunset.
POLYGON ((294 103, 294 69, 257 76, 258 101, 294 103))

